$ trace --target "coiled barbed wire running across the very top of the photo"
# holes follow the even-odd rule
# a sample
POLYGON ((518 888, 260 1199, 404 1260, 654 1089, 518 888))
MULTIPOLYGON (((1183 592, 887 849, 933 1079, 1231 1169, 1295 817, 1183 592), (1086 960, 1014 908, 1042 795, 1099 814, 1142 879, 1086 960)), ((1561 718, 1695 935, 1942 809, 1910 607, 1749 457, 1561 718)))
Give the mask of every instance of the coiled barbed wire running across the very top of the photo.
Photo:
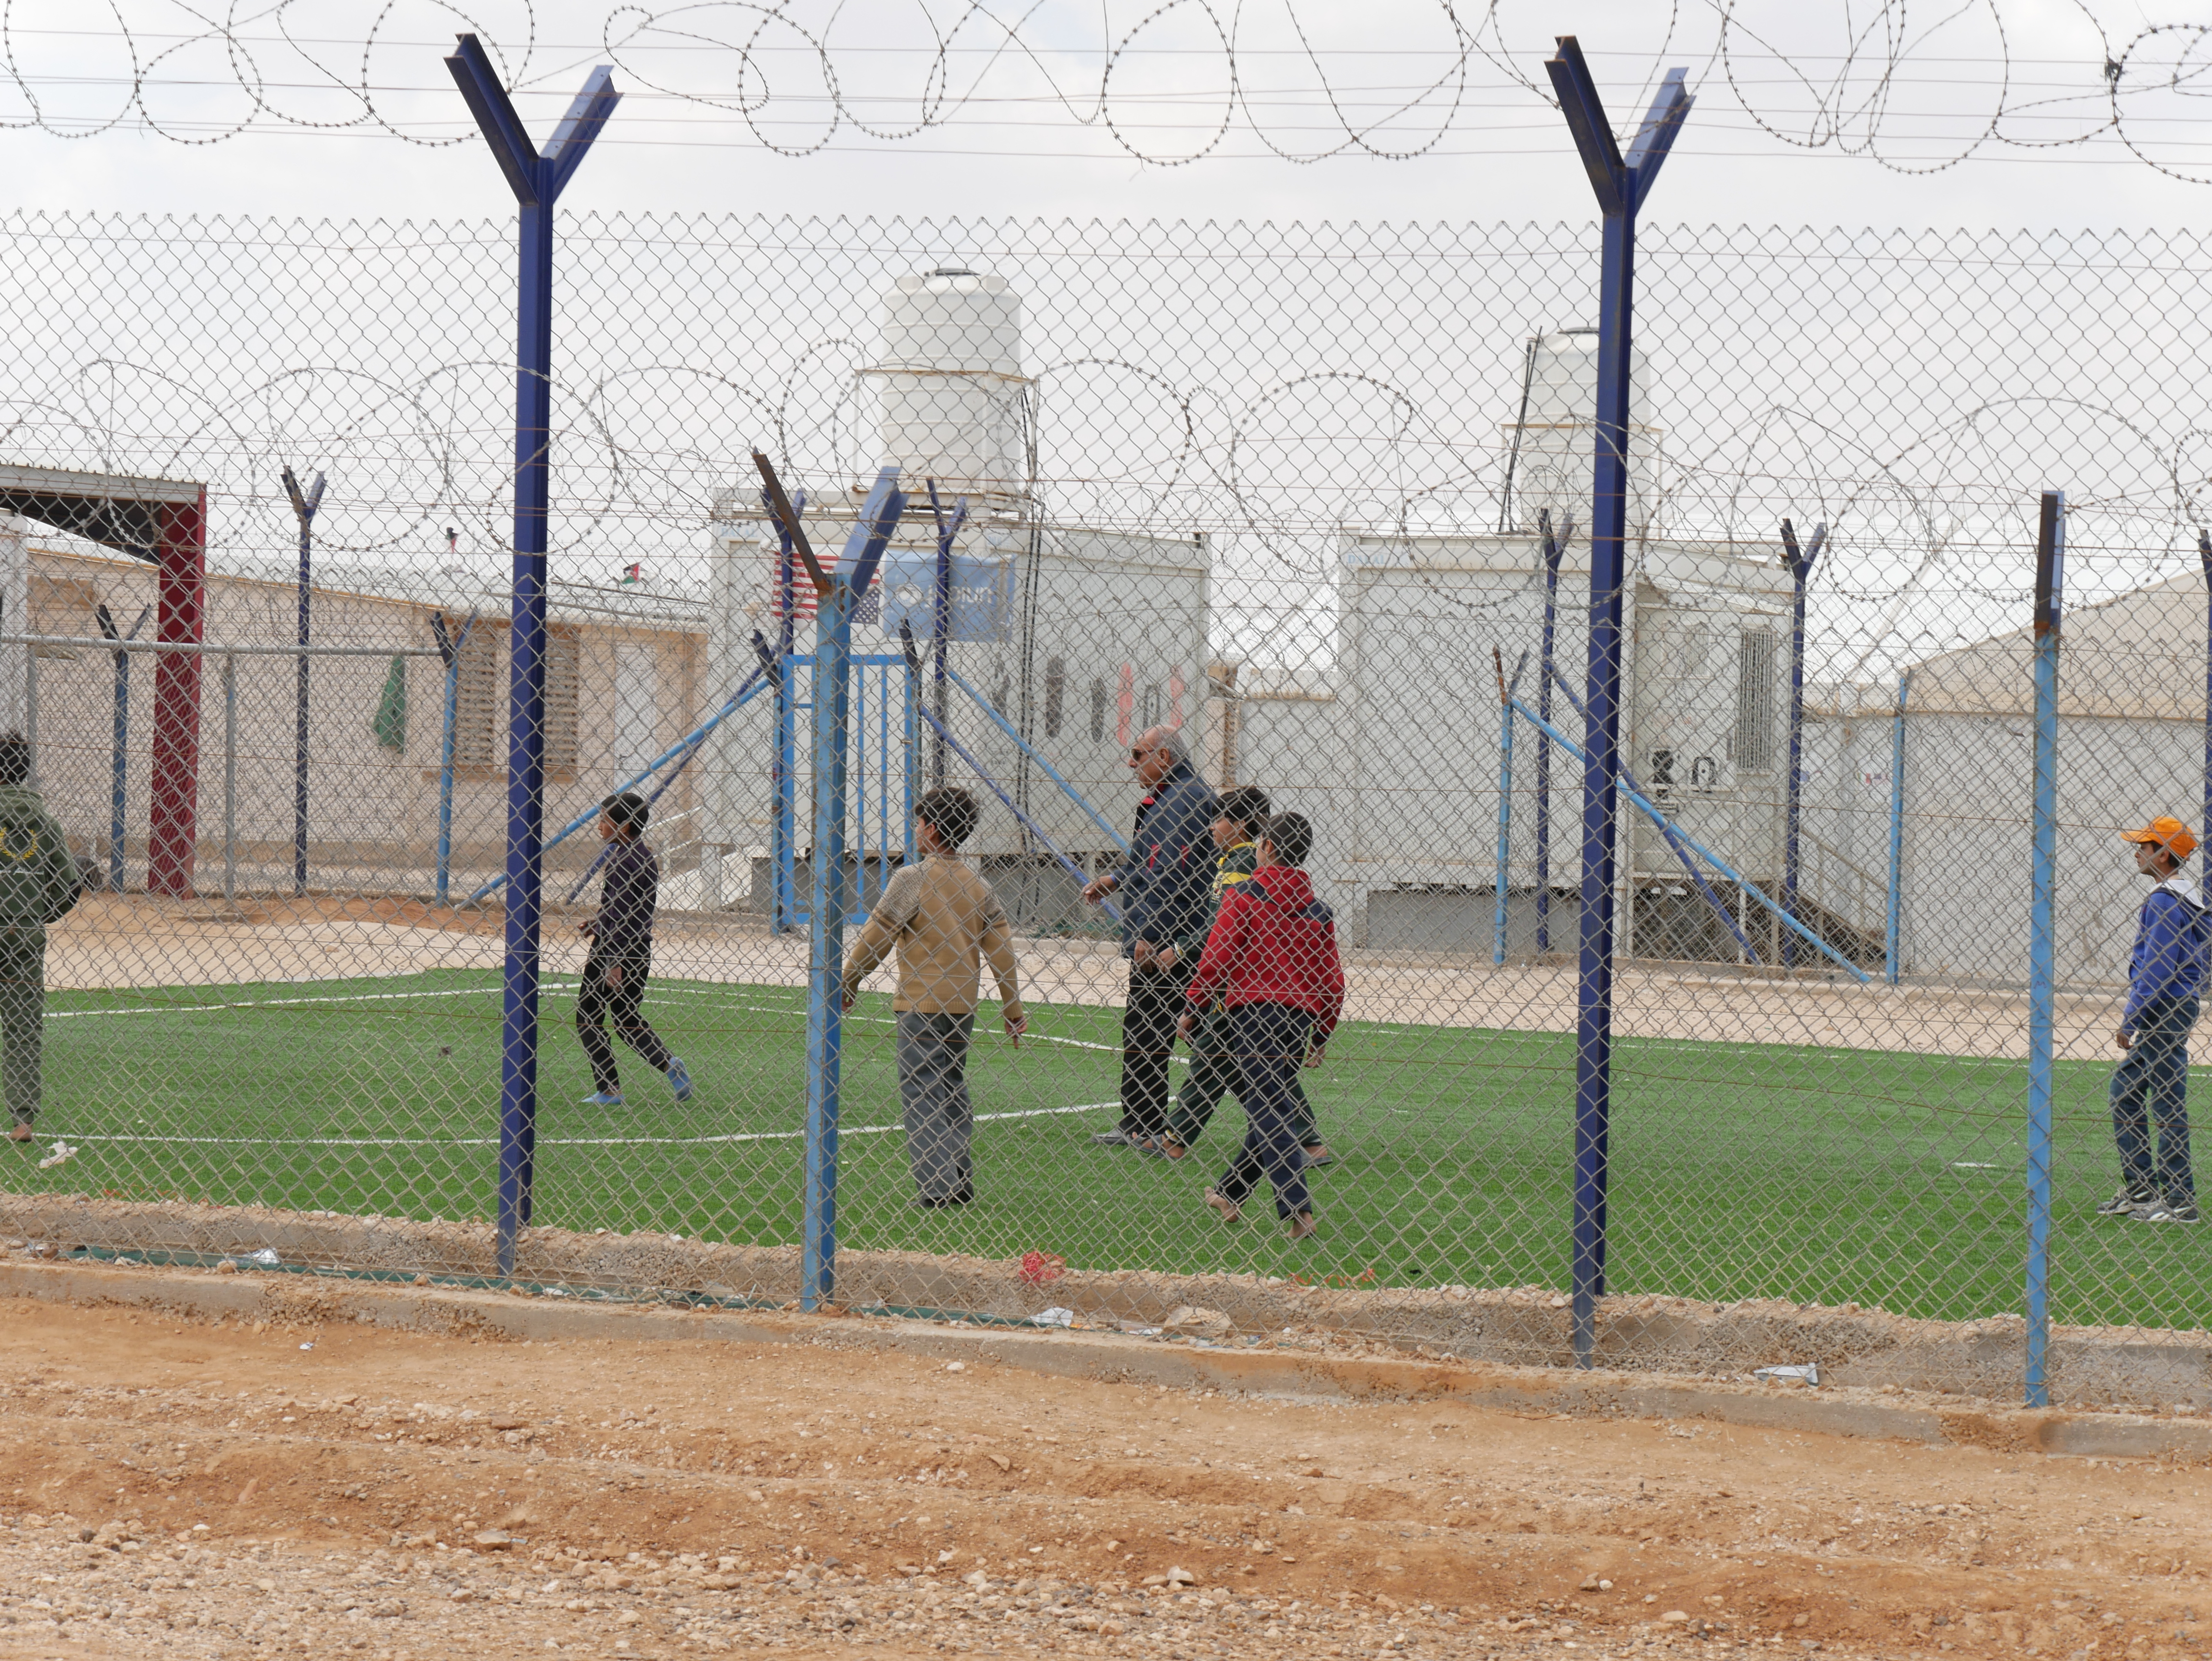
MULTIPOLYGON (((75 20, 71 18, 75 24, 75 20)), ((595 0, 383 0, 367 24, 332 0, 210 13, 113 0, 97 27, 46 27, 0 4, 0 126, 55 137, 144 130, 219 144, 248 130, 380 133, 416 146, 473 142, 434 58, 440 29, 478 33, 520 97, 566 97, 584 64, 613 62, 633 97, 686 124, 734 122, 745 142, 803 157, 847 137, 885 146, 991 126, 1018 106, 1099 135, 1148 166, 1225 155, 1292 164, 1407 161, 1464 133, 1564 148, 1531 113, 1548 24, 1506 0, 1402 0, 1394 13, 1164 0, 1141 9, 909 0, 860 20, 830 0, 686 0, 606 11, 595 0)), ((1814 9, 1679 0, 1628 49, 1593 53, 1624 86, 1617 119, 1668 62, 1725 91, 1743 133, 1898 173, 1997 150, 2115 144, 2174 179, 2212 184, 2192 137, 2212 97, 2212 24, 2099 20, 2088 0, 2053 20, 1984 0, 1922 22, 1905 0, 1814 9)), ((1590 42, 1608 46, 1608 42, 1590 42)), ((635 111, 635 106, 633 106, 635 111)), ((1708 122, 1719 117, 1708 115, 1708 122)), ((1721 122, 1721 126, 1732 126, 1721 122)), ((668 135, 661 142, 690 142, 668 135)))

